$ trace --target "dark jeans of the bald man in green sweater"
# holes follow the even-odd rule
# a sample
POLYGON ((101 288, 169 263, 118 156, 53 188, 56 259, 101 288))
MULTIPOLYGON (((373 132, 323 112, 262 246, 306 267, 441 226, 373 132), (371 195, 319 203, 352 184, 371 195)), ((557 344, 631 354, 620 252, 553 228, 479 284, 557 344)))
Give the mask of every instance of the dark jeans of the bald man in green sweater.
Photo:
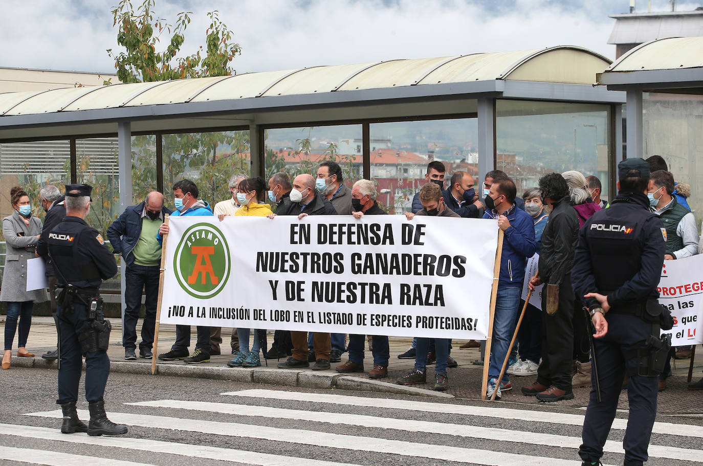
POLYGON ((146 290, 144 307, 146 314, 141 325, 141 343, 139 349, 151 349, 154 344, 156 325, 156 304, 159 297, 159 266, 140 266, 131 264, 124 273, 124 329, 122 346, 126 349, 136 347, 136 321, 141 309, 141 292, 146 290))

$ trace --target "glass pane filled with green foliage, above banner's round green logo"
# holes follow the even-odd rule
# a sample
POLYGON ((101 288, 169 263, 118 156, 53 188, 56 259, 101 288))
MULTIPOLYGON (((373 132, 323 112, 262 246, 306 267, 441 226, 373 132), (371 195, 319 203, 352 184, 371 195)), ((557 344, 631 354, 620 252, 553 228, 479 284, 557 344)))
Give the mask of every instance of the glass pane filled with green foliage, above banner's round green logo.
POLYGON ((195 182, 199 197, 214 207, 231 198, 230 176, 250 173, 249 131, 165 134, 163 138, 167 205, 173 205, 171 187, 183 178, 195 182))

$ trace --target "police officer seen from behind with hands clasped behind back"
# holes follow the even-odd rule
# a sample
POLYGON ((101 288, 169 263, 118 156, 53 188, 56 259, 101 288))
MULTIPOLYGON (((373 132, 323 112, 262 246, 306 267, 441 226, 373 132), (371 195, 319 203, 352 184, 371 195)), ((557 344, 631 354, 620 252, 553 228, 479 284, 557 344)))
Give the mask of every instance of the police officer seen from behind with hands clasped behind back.
POLYGON ((666 244, 662 221, 648 209, 650 167, 642 159, 627 159, 618 165, 618 176, 619 193, 610 208, 595 212, 581 228, 572 273, 574 292, 591 313, 598 370, 583 422, 582 465, 596 465, 603 455, 626 374, 630 414, 624 464, 647 461, 657 415, 657 370, 666 356, 661 351, 667 351, 666 339, 659 339, 662 306, 657 303, 666 244))

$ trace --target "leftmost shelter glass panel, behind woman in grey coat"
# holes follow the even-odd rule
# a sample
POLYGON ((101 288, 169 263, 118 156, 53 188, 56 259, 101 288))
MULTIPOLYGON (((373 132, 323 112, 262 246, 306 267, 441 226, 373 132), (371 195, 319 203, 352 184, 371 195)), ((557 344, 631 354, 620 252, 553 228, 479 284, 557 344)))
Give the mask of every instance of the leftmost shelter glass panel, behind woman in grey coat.
MULTIPOLYGON (((32 213, 44 220, 39 205, 39 190, 53 184, 61 191, 70 183, 70 146, 68 141, 38 141, 0 144, 0 217, 11 215, 10 190, 22 186, 30 195, 32 213)), ((0 265, 5 266, 5 238, 0 232, 0 265)))

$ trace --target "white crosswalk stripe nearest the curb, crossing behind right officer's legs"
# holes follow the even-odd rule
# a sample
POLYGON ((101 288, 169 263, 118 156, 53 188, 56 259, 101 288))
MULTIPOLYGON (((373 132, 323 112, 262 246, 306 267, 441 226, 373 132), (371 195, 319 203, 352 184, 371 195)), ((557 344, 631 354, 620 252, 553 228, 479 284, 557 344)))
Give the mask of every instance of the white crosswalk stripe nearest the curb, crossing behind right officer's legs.
MULTIPOLYGON (((429 403, 427 401, 409 401, 383 398, 364 398, 362 396, 333 395, 321 393, 299 393, 295 391, 252 389, 227 391, 221 395, 249 396, 252 398, 278 399, 291 401, 311 401, 313 403, 333 403, 346 406, 369 406, 371 408, 389 408, 425 413, 447 413, 467 416, 484 416, 486 418, 520 419, 552 424, 583 425, 583 415, 567 413, 550 413, 539 410, 520 410, 512 408, 489 408, 485 406, 467 406, 449 403, 429 403)), ((613 429, 625 430, 627 420, 616 418, 613 429)), ((703 427, 696 425, 673 424, 671 422, 654 422, 653 434, 681 435, 703 438, 703 427)))

